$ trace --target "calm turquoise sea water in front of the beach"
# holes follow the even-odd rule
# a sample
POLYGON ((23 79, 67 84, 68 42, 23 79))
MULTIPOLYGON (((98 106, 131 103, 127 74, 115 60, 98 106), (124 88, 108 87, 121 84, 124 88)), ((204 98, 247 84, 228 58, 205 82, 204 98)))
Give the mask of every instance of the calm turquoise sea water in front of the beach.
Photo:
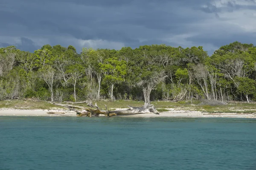
POLYGON ((0 116, 0 170, 256 170, 256 119, 0 116))

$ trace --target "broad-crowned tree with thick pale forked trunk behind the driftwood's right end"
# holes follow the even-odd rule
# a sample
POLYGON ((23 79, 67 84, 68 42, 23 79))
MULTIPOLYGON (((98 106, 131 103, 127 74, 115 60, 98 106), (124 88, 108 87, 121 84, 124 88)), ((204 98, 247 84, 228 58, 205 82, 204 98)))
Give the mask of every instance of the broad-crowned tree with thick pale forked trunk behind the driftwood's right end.
POLYGON ((163 49, 164 45, 143 45, 134 50, 134 55, 129 62, 129 79, 131 84, 143 89, 145 105, 150 103, 151 91, 162 82, 165 77, 165 70, 162 66, 157 65, 156 60, 158 53, 154 48, 163 49))

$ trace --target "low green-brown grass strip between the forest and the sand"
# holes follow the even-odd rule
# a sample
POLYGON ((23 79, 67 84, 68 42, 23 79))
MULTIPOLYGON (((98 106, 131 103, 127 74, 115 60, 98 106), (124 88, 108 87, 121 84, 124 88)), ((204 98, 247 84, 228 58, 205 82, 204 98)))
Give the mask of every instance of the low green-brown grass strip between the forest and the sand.
MULTIPOLYGON (((114 108, 127 108, 127 106, 142 107, 143 101, 123 101, 116 100, 111 101, 97 101, 99 108, 105 109, 105 105, 108 106, 108 110, 114 108)), ((95 104, 95 101, 93 102, 95 104)), ((159 112, 168 111, 169 108, 175 110, 188 110, 188 111, 201 111, 207 113, 256 113, 256 103, 246 102, 228 102, 226 105, 205 105, 200 101, 193 101, 192 105, 190 101, 180 102, 168 102, 168 101, 153 101, 151 102, 159 112), (201 103, 201 104, 200 104, 201 103)), ((79 104, 79 106, 87 107, 86 104, 79 104)), ((13 108, 13 109, 58 109, 63 108, 57 105, 52 105, 48 102, 40 101, 24 101, 24 100, 5 100, 0 101, 0 108, 13 108)))

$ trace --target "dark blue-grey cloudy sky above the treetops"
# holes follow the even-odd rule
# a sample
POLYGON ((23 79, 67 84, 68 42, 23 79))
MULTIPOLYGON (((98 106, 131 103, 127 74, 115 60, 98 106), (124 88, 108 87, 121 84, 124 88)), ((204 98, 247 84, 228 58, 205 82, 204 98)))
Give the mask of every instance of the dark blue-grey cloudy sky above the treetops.
POLYGON ((0 0, 0 47, 256 45, 256 0, 0 0))

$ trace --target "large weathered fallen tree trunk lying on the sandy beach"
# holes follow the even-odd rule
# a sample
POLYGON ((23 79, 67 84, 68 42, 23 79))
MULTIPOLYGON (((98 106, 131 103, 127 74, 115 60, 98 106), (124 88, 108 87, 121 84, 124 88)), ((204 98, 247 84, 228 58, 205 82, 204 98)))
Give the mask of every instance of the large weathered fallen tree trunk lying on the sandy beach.
POLYGON ((76 106, 76 105, 69 105, 69 104, 58 104, 58 103, 52 103, 58 106, 69 108, 70 111, 75 111, 77 116, 99 116, 100 114, 108 116, 128 116, 128 115, 135 115, 135 114, 144 114, 144 113, 155 113, 159 114, 159 112, 156 110, 154 105, 150 105, 148 103, 145 103, 143 107, 132 107, 128 106, 128 109, 125 110, 116 110, 116 111, 108 111, 107 105, 105 105, 105 110, 100 109, 97 104, 92 105, 90 107, 96 108, 86 108, 82 106, 76 106), (81 109, 82 111, 78 111, 77 109, 81 109))

